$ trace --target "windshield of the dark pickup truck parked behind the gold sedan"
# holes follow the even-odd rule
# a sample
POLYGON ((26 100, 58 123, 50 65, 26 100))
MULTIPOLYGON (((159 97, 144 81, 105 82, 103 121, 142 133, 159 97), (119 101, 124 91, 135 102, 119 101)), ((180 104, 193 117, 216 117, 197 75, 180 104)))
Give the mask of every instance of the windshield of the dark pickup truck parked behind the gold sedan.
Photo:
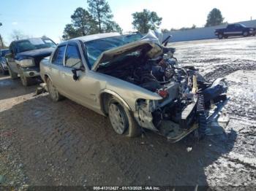
POLYGON ((17 42, 17 52, 36 50, 47 47, 56 47, 56 44, 50 39, 33 38, 17 42))

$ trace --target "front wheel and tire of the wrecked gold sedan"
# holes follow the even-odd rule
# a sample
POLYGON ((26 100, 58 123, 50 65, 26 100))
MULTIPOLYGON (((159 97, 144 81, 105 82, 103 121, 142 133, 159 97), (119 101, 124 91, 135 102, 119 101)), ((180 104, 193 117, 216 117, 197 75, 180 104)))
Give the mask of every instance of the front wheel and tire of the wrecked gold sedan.
POLYGON ((140 126, 135 121, 132 113, 116 98, 110 98, 108 102, 108 117, 113 130, 119 135, 140 136, 140 126))

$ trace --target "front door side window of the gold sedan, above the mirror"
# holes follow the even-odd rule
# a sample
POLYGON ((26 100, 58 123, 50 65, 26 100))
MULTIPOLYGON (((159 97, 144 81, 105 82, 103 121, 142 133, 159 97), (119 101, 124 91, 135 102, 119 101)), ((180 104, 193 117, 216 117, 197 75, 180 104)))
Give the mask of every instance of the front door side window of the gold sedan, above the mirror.
POLYGON ((78 47, 74 45, 67 46, 65 66, 72 69, 80 69, 81 58, 78 47))

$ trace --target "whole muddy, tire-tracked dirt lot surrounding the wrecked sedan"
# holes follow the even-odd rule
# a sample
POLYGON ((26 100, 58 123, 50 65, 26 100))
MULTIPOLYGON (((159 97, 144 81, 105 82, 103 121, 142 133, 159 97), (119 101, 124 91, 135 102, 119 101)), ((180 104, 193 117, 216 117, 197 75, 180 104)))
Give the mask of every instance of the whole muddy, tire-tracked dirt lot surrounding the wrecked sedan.
POLYGON ((107 118, 1 76, 0 183, 256 186, 255 44, 255 37, 172 44, 181 64, 227 78, 229 125, 199 142, 118 136, 107 118))

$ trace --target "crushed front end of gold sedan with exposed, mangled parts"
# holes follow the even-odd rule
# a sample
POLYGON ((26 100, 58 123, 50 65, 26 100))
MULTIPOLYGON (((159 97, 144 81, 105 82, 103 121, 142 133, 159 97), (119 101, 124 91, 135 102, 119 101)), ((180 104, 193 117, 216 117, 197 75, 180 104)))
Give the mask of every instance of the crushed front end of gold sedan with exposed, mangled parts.
POLYGON ((138 100, 135 118, 141 127, 154 130, 171 142, 194 130, 203 137, 207 126, 205 104, 224 95, 227 86, 223 79, 206 82, 194 67, 169 66, 172 76, 157 89, 162 100, 138 100))

